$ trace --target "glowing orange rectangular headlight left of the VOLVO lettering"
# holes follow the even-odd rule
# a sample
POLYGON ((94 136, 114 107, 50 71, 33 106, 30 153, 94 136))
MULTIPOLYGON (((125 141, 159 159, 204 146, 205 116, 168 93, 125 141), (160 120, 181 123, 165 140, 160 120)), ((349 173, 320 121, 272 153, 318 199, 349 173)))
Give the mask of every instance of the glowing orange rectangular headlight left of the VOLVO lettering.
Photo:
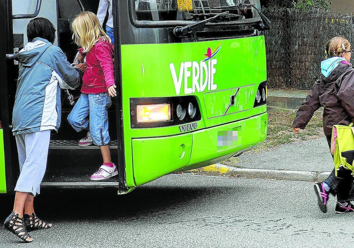
POLYGON ((171 120, 170 104, 137 105, 137 123, 166 122, 171 120))

